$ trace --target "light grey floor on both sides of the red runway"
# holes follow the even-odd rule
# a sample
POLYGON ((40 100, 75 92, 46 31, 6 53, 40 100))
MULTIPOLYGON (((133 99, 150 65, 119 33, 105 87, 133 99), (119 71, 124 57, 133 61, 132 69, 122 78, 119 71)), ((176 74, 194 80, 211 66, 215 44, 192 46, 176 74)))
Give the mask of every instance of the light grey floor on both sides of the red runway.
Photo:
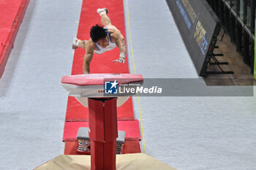
MULTIPOLYGON (((29 4, 0 80, 0 169, 34 169, 64 151, 67 92, 60 80, 71 72, 70 41, 81 4, 29 4)), ((198 78, 165 0, 124 0, 124 12, 131 73, 136 68, 146 78, 198 78)), ((140 119, 138 97, 133 101, 140 119)), ((255 101, 140 97, 146 153, 178 170, 255 170, 255 101)))

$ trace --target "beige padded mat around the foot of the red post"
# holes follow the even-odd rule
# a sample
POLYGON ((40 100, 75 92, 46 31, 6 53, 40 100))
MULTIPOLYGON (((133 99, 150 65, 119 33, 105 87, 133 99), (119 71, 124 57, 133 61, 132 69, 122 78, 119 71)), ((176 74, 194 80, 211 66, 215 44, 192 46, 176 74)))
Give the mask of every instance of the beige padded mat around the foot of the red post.
MULTIPOLYGON (((37 170, 90 170, 90 155, 59 155, 37 170)), ((176 170, 143 153, 116 155, 117 170, 176 170)))

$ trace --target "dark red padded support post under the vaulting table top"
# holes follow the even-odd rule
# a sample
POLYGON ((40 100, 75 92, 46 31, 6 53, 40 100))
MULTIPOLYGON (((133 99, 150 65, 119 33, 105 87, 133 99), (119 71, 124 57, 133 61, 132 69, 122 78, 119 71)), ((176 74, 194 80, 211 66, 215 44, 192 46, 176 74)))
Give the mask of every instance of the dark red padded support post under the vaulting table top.
POLYGON ((91 170, 116 170, 116 99, 88 99, 91 170))

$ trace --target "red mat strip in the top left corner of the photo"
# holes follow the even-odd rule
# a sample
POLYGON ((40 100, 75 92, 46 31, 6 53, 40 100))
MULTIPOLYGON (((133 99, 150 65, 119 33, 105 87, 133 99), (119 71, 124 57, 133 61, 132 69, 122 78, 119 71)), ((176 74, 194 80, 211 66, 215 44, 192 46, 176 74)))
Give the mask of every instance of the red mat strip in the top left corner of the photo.
POLYGON ((0 0, 0 78, 28 5, 29 0, 0 0))

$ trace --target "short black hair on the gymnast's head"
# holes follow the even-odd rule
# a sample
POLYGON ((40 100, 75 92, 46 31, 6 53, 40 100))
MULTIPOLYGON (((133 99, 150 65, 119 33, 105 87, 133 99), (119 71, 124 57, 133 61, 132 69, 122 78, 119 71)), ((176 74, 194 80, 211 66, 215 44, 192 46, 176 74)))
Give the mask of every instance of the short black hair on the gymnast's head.
POLYGON ((103 26, 96 24, 91 27, 90 36, 92 41, 97 42, 99 39, 104 39, 107 36, 107 32, 103 26))

